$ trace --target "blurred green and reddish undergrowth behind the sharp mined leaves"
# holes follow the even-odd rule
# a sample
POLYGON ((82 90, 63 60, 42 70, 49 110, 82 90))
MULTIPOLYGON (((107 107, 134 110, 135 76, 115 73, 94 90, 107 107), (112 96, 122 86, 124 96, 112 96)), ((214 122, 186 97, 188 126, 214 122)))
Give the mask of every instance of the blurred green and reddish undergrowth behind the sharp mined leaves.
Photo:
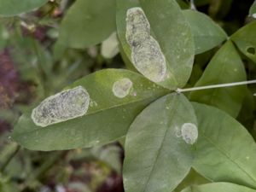
MULTIPOLYGON (((119 50, 115 21, 111 20, 113 7, 109 6, 108 11, 96 10, 101 13, 100 18, 93 14, 84 18, 74 2, 49 1, 30 13, 0 17, 0 191, 123 191, 122 142, 90 149, 35 152, 20 148, 9 138, 20 113, 33 103, 89 73, 125 67, 127 60, 122 58, 125 55, 119 50), (70 20, 67 15, 76 16, 70 20), (79 23, 84 20, 88 26, 79 23), (92 33, 102 26, 102 32, 95 32, 96 38, 90 39, 86 32, 78 34, 74 26, 87 27, 92 33)), ((97 2, 90 1, 87 5, 98 9, 97 2)), ((181 8, 189 9, 188 1, 177 2, 181 8)), ((228 35, 253 20, 248 16, 252 4, 253 0, 195 0, 196 9, 209 15, 228 35)), ((200 79, 217 50, 218 47, 195 56, 188 86, 200 79)), ((256 79, 256 65, 243 55, 241 58, 247 79, 256 79)), ((238 119, 255 138, 252 93, 256 87, 249 88, 238 119)), ((193 180, 191 176, 187 179, 193 180)))

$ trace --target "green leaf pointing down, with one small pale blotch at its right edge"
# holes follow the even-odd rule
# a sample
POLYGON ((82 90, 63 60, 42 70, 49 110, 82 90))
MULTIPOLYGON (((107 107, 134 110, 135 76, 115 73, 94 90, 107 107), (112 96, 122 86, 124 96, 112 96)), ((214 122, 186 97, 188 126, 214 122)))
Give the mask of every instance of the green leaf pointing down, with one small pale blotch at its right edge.
POLYGON ((193 145, 188 138, 191 141, 197 138, 196 125, 194 109, 182 94, 161 97, 145 108, 126 135, 125 191, 169 192, 175 189, 192 165, 193 145), (186 123, 193 124, 195 129, 188 137, 183 137, 181 130, 184 124, 188 125, 186 123))

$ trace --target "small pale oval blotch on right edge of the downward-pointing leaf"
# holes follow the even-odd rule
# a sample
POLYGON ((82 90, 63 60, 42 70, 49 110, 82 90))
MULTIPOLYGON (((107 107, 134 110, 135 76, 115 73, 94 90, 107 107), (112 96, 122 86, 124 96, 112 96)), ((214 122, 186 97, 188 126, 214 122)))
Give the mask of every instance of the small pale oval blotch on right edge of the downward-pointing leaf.
POLYGON ((181 127, 183 140, 188 144, 194 144, 198 137, 198 130, 195 124, 185 123, 181 127))

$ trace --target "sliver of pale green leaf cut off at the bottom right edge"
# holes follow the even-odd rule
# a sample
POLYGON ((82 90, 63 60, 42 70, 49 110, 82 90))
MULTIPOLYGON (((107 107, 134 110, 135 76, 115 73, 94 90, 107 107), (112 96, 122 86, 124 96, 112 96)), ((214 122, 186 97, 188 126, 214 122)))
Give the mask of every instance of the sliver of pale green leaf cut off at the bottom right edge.
POLYGON ((234 183, 208 183, 191 186, 182 192, 255 192, 256 190, 234 183))

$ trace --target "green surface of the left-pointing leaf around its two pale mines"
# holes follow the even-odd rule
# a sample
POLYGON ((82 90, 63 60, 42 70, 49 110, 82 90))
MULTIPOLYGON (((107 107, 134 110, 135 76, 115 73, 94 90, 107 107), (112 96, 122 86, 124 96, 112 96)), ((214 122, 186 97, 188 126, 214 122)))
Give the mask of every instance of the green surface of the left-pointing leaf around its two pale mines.
POLYGON ((35 125, 32 111, 28 111, 15 125, 12 133, 15 141, 33 150, 85 148, 109 143, 123 137, 137 114, 168 91, 137 73, 123 69, 92 73, 67 88, 79 85, 90 95, 90 107, 84 116, 41 127, 35 125), (123 98, 113 93, 113 84, 121 79, 132 82, 130 93, 123 98))

